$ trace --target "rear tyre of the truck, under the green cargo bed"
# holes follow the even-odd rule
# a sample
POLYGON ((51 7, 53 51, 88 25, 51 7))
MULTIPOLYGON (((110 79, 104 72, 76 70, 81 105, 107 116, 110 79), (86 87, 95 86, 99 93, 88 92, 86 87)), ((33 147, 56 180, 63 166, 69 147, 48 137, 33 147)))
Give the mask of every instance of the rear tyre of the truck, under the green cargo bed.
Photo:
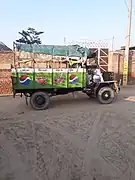
POLYGON ((30 105, 35 110, 45 110, 48 108, 50 98, 46 92, 35 92, 30 97, 30 105))

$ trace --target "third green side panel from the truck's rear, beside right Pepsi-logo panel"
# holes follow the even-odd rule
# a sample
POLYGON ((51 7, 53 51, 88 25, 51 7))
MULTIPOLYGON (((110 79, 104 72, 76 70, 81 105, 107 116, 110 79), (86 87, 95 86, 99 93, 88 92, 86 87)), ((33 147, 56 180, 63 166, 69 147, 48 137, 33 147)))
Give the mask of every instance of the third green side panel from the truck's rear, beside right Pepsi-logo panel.
POLYGON ((68 69, 53 69, 53 88, 67 88, 68 69))

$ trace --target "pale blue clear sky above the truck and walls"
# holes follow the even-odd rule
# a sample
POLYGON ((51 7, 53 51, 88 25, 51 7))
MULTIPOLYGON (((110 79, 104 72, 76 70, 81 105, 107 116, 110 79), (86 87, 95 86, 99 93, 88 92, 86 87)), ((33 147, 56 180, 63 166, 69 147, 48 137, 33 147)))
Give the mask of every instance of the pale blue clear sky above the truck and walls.
MULTIPOLYGON (((126 0, 125 0, 126 1, 126 0)), ((0 41, 12 47, 28 27, 44 31, 43 44, 87 39, 125 44, 128 10, 124 0, 0 0, 0 41), (114 41, 112 41, 114 37, 114 41)), ((134 0, 133 0, 134 1, 134 0)), ((135 45, 135 2, 131 45, 135 45)))

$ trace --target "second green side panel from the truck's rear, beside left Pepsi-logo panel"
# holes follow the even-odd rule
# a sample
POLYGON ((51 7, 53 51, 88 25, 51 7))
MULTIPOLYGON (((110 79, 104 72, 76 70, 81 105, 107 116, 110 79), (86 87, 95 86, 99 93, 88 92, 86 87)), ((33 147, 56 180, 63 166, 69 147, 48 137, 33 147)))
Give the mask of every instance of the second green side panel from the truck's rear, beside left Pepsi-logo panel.
POLYGON ((52 88, 52 69, 35 69, 35 89, 52 88))

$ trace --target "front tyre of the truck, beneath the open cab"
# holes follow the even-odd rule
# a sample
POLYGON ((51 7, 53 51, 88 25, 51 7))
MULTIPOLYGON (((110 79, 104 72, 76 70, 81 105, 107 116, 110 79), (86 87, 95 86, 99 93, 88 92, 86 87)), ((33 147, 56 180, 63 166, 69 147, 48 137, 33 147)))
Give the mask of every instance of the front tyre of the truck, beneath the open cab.
POLYGON ((98 101, 101 104, 110 104, 114 99, 114 90, 110 87, 102 87, 97 94, 98 101))

